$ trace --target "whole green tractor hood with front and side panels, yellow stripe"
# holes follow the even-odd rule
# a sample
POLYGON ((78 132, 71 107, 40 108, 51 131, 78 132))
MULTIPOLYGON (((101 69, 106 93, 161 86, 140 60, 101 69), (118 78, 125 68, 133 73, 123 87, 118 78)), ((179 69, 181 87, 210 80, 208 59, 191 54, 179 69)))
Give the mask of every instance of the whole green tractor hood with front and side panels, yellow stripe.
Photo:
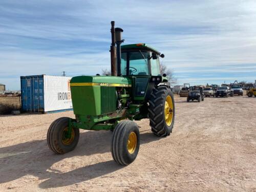
POLYGON ((130 78, 77 76, 70 81, 75 115, 98 116, 116 112, 117 87, 132 87, 130 78))

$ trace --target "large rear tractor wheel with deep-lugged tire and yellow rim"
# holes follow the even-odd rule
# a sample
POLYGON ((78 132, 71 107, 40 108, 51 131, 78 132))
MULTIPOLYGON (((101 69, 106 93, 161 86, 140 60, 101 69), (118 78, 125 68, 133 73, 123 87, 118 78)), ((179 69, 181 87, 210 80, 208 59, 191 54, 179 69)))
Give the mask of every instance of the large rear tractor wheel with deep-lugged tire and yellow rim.
POLYGON ((167 86, 157 86, 148 100, 148 117, 152 132, 166 137, 172 133, 175 118, 175 104, 172 91, 167 86))

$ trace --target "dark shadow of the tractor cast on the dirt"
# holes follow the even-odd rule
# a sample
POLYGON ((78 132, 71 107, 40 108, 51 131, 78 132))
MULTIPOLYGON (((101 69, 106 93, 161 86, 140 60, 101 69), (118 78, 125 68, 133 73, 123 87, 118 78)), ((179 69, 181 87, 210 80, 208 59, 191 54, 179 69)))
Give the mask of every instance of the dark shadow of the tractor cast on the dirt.
MULTIPOLYGON (((148 132, 150 131, 141 132, 140 144, 161 139, 148 132)), ((80 167, 67 173, 51 168, 55 163, 74 156, 84 156, 86 161, 88 158, 94 158, 91 155, 110 153, 111 138, 112 132, 110 131, 81 133, 75 150, 64 155, 56 155, 50 151, 46 140, 34 140, 2 147, 0 148, 0 184, 26 175, 33 175, 39 180, 47 179, 39 184, 40 188, 51 188, 68 186, 113 173, 124 166, 118 165, 114 160, 109 160, 80 167)))

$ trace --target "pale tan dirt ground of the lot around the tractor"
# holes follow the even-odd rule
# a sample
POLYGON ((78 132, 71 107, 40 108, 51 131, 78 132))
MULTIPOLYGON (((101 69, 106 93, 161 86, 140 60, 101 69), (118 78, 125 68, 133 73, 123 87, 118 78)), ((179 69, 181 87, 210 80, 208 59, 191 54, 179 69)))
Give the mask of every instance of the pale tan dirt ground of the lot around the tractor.
POLYGON ((256 191, 256 98, 175 101, 169 137, 137 121, 140 151, 129 166, 112 159, 110 131, 81 131, 74 151, 53 154, 48 127, 73 112, 0 116, 0 191, 256 191))

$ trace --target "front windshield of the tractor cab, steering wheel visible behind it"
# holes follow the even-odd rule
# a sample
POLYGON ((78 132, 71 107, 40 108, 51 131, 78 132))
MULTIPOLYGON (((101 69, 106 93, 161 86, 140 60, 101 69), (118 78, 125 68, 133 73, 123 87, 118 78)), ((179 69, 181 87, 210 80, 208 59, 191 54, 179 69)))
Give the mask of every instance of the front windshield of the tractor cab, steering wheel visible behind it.
POLYGON ((149 75, 148 52, 135 51, 121 54, 121 73, 123 75, 149 75), (127 56, 129 56, 129 70, 127 72, 127 56))

